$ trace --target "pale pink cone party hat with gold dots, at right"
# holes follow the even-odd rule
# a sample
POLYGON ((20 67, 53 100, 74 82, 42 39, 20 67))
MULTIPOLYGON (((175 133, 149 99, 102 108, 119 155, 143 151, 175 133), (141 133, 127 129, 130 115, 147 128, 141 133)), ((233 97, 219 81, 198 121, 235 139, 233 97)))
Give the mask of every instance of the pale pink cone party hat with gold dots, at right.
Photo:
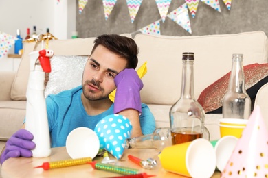
POLYGON ((268 131, 255 105, 221 177, 268 177, 268 131))

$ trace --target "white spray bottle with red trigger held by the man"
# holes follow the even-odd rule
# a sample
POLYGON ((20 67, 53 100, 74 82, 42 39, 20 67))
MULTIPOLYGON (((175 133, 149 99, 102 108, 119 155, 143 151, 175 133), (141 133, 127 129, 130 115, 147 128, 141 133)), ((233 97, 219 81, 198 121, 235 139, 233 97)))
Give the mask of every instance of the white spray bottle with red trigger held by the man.
POLYGON ((48 157, 51 154, 47 106, 45 103, 45 73, 50 73, 49 58, 52 50, 43 49, 30 53, 30 76, 27 86, 25 129, 34 135, 36 144, 33 157, 48 157))

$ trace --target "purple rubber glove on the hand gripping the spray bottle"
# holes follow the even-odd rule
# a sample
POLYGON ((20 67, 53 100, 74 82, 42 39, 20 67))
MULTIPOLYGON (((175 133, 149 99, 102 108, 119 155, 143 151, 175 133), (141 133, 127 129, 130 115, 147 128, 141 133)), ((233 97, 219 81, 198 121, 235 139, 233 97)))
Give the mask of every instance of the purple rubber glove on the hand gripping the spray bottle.
POLYGON ((35 148, 35 143, 32 142, 34 136, 30 131, 19 129, 8 139, 5 144, 5 150, 1 154, 0 162, 3 164, 10 157, 32 157, 32 149, 35 148))

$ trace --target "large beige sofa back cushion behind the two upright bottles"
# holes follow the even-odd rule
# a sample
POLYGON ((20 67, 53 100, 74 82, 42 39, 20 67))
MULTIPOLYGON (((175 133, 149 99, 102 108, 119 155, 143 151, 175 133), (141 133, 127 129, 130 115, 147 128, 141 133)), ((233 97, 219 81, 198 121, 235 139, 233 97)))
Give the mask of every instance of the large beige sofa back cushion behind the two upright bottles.
POLYGON ((182 37, 137 34, 134 40, 139 47, 137 67, 148 62, 142 79, 144 103, 172 105, 179 99, 183 52, 194 52, 195 99, 211 81, 230 71, 233 53, 242 53, 245 65, 267 63, 267 36, 263 31, 182 37))

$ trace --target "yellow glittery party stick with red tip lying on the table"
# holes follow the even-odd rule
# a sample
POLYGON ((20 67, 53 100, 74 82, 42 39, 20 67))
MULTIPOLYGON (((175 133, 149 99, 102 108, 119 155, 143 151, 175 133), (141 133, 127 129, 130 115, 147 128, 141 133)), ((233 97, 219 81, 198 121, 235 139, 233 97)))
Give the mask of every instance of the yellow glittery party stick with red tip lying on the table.
POLYGON ((36 166, 34 168, 43 168, 44 170, 49 170, 51 168, 65 168, 69 166, 77 166, 81 164, 87 164, 88 162, 92 162, 91 157, 83 157, 77 159, 69 159, 69 160, 60 160, 56 162, 44 162, 41 166, 36 166))

